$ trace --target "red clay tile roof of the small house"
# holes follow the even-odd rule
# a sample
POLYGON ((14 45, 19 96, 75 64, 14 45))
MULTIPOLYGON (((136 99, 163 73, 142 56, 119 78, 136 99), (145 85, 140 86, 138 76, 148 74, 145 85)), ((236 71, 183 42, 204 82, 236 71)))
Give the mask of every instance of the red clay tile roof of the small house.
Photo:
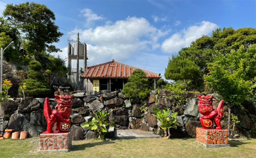
MULTIPOLYGON (((87 67, 83 74, 83 78, 129 78, 132 75, 132 72, 136 68, 130 65, 126 65, 120 62, 115 61, 108 61, 102 64, 93 65, 87 67)), ((161 78, 161 74, 157 74, 155 72, 143 70, 147 78, 161 78)))

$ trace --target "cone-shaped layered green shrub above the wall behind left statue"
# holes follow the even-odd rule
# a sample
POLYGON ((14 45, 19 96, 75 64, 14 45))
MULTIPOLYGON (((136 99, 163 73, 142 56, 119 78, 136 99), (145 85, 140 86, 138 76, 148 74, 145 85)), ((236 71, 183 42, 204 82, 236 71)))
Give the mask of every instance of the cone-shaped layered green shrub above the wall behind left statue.
MULTIPOLYGON (((25 95, 28 97, 46 97, 51 92, 50 87, 45 81, 42 65, 38 61, 30 61, 27 79, 20 83, 20 87, 26 85, 25 95)), ((19 88, 22 95, 22 88, 19 88)))

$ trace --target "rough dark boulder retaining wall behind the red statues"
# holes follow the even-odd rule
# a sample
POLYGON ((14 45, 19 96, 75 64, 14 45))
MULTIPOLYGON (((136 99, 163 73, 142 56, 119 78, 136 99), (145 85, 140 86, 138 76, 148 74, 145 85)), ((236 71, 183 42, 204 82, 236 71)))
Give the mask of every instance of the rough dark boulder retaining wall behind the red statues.
MULTIPOLYGON (((177 122, 180 124, 177 130, 171 129, 172 138, 196 137, 196 127, 201 127, 198 112, 198 97, 194 93, 183 93, 187 101, 178 105, 177 100, 171 99, 172 92, 161 90, 160 94, 156 90, 152 90, 148 100, 140 103, 133 100, 131 103, 122 93, 118 91, 110 92, 101 90, 100 92, 78 92, 74 93, 73 113, 71 115, 71 131, 73 132, 73 140, 94 138, 94 132, 88 128, 82 128, 81 125, 87 121, 91 121, 94 117, 93 112, 96 111, 112 111, 109 120, 115 123, 116 129, 140 129, 142 131, 150 131, 155 134, 164 135, 164 131, 158 127, 160 122, 156 119, 153 108, 164 110, 169 108, 172 112, 178 112, 177 122)), ((219 97, 214 96, 213 106, 217 108, 219 97)), ((248 105, 250 111, 255 110, 255 106, 248 105)), ((56 106, 54 99, 50 100, 51 108, 56 106)), ((16 131, 28 131, 30 137, 39 136, 46 130, 46 120, 43 114, 44 98, 27 97, 22 100, 8 100, 3 105, 5 118, 4 128, 15 129, 16 131)), ((240 112, 233 110, 233 113, 240 112)), ((222 127, 227 128, 227 106, 224 106, 224 118, 221 121, 222 127)), ((237 115, 238 116, 238 115, 237 115)), ((239 134, 248 136, 255 128, 255 119, 250 118, 249 114, 239 113, 239 119, 242 122, 238 126, 239 134)), ((255 116, 255 115, 254 115, 255 116)), ((113 132, 113 128, 111 131, 113 132)), ((111 134, 110 134, 111 135, 111 134)))

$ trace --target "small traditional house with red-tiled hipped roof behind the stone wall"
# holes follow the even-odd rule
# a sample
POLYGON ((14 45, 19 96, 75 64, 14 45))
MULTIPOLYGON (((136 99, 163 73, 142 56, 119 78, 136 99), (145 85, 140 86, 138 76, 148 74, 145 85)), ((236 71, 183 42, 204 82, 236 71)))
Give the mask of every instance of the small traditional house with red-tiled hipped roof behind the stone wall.
MULTIPOLYGON (((122 90, 124 84, 127 83, 127 79, 135 69, 140 68, 117 62, 114 59, 109 62, 86 67, 82 75, 85 90, 122 90)), ((154 88, 156 89, 156 80, 161 78, 161 74, 141 70, 145 72, 151 83, 154 82, 154 88)))

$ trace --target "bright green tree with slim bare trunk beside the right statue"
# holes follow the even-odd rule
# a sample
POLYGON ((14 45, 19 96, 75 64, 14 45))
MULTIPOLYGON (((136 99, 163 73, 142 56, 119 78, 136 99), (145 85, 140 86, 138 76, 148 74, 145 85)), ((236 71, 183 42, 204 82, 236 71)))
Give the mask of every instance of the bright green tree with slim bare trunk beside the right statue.
POLYGON ((256 45, 247 50, 242 45, 230 54, 213 56, 208 63, 209 75, 205 75, 206 84, 228 102, 228 135, 232 106, 241 103, 255 94, 256 81, 256 45))

